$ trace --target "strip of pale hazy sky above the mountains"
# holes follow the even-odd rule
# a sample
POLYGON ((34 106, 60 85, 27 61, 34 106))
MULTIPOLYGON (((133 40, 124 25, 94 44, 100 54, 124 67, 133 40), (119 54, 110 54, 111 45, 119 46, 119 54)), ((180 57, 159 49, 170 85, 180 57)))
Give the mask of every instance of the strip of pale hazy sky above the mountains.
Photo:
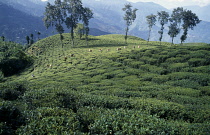
POLYGON ((154 2, 166 8, 175 8, 178 6, 199 5, 206 6, 210 4, 210 0, 128 0, 130 2, 154 2))

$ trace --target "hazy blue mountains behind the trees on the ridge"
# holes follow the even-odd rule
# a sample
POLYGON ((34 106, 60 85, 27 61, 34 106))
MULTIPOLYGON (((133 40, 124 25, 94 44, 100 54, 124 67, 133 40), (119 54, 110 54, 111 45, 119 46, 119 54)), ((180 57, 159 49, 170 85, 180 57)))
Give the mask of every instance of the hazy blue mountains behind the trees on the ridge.
MULTIPOLYGON (((49 0, 54 2, 54 0, 49 0)), ((123 20, 124 12, 122 8, 126 0, 82 0, 83 4, 93 10, 94 18, 90 20, 91 35, 105 34, 125 34, 125 22, 123 20)), ((137 8, 137 18, 130 27, 129 35, 137 36, 143 39, 148 37, 148 26, 146 16, 157 14, 157 11, 171 10, 153 2, 131 3, 137 8)), ((41 38, 56 34, 53 28, 46 30, 42 21, 46 2, 41 0, 0 0, 0 36, 4 35, 7 40, 25 43, 25 37, 34 34, 37 39, 37 32, 41 32, 41 38)), ((202 20, 193 31, 189 31, 186 42, 205 42, 210 43, 210 5, 205 7, 188 6, 184 7, 192 10, 202 20)), ((168 27, 165 26, 163 41, 171 42, 167 35, 168 27)), ((158 41, 160 25, 153 27, 151 40, 158 41)), ((69 31, 65 31, 69 32, 69 31)), ((179 43, 180 35, 175 38, 179 43)))

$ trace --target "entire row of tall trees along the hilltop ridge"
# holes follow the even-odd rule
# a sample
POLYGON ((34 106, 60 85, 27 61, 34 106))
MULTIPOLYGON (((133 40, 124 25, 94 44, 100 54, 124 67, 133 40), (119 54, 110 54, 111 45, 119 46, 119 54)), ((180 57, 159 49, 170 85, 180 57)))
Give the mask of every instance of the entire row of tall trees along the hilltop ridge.
MULTIPOLYGON (((138 9, 132 9, 132 5, 129 3, 125 4, 122 10, 125 11, 123 19, 126 22, 125 43, 127 44, 129 27, 135 21, 138 9)), ((85 35, 88 45, 89 20, 93 18, 93 12, 88 7, 83 7, 81 0, 55 0, 54 5, 48 2, 44 15, 43 21, 45 26, 47 28, 55 26, 56 31, 60 34, 61 42, 63 40, 62 33, 64 33, 65 25, 70 30, 72 46, 74 46, 74 33, 76 33, 80 39, 85 35), (79 24, 81 22, 82 24, 79 24)), ((193 28, 201 22, 195 13, 192 13, 191 10, 183 9, 182 7, 174 9, 171 15, 166 11, 157 12, 157 15, 148 15, 146 16, 146 20, 149 27, 148 42, 150 41, 152 27, 156 25, 157 21, 159 22, 161 26, 158 31, 160 44, 163 39, 166 24, 169 23, 168 35, 172 39, 172 44, 174 43, 174 38, 183 31, 180 37, 182 44, 187 39, 189 29, 193 30, 193 28)))

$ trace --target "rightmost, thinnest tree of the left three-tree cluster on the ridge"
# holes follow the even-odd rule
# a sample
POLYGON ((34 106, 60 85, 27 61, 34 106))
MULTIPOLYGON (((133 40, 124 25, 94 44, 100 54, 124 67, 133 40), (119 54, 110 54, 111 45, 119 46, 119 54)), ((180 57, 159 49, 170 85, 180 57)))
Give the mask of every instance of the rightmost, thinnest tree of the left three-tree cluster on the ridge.
POLYGON ((83 21, 83 26, 84 26, 84 30, 85 30, 85 40, 86 40, 86 44, 88 45, 88 35, 89 35, 89 20, 93 18, 93 12, 85 7, 82 10, 82 21, 83 21))

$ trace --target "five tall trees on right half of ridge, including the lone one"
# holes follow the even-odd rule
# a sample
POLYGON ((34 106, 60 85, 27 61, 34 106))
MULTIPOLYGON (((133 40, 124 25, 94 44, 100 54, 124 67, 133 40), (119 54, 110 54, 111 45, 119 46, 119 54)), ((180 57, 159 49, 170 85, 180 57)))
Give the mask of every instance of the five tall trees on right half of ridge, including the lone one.
MULTIPOLYGON (((129 31, 129 27, 132 25, 132 23, 136 19, 136 11, 138 9, 132 9, 132 5, 125 4, 125 7, 122 8, 123 11, 125 11, 124 20, 126 23, 125 28, 125 43, 127 44, 127 35, 129 31)), ((156 25, 156 22, 158 21, 161 28, 158 31, 160 34, 159 41, 161 44, 163 33, 165 29, 165 25, 169 23, 169 30, 168 35, 172 39, 172 44, 174 44, 174 38, 180 34, 180 32, 183 30, 183 34, 180 37, 181 44, 186 41, 188 30, 192 29, 201 22, 199 20, 198 16, 195 13, 192 13, 191 10, 183 9, 182 7, 175 8, 171 14, 169 15, 166 11, 157 12, 157 15, 151 14, 146 16, 147 24, 149 27, 149 35, 147 41, 150 40, 151 30, 154 25, 156 25)))

